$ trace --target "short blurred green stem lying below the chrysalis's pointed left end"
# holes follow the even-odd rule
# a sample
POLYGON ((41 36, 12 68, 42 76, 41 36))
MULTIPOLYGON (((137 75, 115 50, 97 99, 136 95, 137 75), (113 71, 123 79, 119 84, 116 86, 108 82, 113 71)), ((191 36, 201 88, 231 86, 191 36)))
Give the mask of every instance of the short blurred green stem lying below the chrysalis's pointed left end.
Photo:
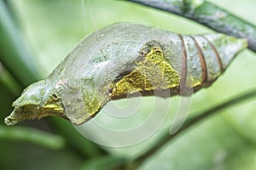
POLYGON ((28 127, 0 126, 0 139, 31 142, 51 150, 60 150, 65 145, 65 140, 61 136, 28 127))

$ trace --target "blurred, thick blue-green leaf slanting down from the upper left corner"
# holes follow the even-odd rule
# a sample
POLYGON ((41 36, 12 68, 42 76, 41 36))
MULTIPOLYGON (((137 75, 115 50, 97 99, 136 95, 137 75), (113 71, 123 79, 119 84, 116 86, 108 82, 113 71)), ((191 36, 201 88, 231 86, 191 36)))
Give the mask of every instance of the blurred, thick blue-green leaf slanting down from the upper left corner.
POLYGON ((38 80, 40 76, 32 54, 3 1, 0 1, 0 35, 0 59, 3 65, 24 87, 38 80))

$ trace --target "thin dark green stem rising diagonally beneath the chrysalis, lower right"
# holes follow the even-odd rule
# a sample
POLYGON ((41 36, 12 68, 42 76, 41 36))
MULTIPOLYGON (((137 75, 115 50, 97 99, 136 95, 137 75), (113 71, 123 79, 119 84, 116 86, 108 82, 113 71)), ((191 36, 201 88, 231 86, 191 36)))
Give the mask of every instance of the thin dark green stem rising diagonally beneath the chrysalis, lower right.
POLYGON ((143 161, 148 159, 149 156, 152 156, 155 152, 157 152, 161 148, 164 148, 164 145, 166 143, 171 141, 178 134, 183 133, 184 130, 188 129, 192 125, 195 125, 196 123, 201 122, 205 118, 212 116, 214 114, 217 114, 219 111, 227 109, 230 106, 240 104, 241 102, 245 102, 246 100, 252 99, 254 97, 256 97, 256 89, 253 89, 241 95, 232 97, 227 101, 221 102, 219 105, 216 105, 206 111, 201 111, 199 113, 192 114, 195 116, 188 118, 183 123, 183 126, 177 131, 177 133, 174 133, 171 135, 170 129, 166 129, 163 135, 154 144, 152 144, 152 147, 149 150, 147 150, 143 155, 137 157, 137 159, 135 160, 135 164, 137 165, 137 167, 140 166, 143 163, 143 161))

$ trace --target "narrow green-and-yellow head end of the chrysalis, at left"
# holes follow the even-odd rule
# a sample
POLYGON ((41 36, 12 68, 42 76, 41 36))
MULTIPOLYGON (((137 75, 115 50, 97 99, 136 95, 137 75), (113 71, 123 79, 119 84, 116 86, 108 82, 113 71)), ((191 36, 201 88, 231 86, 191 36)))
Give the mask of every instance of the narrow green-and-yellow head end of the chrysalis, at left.
POLYGON ((45 80, 27 87, 15 100, 13 107, 15 107, 14 111, 4 120, 7 125, 15 125, 26 119, 40 119, 44 116, 63 116, 64 112, 61 97, 45 80))

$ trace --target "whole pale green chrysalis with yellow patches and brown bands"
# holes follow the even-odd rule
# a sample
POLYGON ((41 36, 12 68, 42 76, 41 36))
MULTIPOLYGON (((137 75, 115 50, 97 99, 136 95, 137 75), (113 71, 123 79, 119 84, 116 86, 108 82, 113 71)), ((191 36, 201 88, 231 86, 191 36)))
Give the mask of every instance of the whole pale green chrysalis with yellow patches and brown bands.
POLYGON ((62 116, 79 125, 127 94, 190 95, 188 89, 211 85, 244 48, 245 39, 218 33, 182 36, 131 23, 108 26, 26 88, 5 123, 62 116))

